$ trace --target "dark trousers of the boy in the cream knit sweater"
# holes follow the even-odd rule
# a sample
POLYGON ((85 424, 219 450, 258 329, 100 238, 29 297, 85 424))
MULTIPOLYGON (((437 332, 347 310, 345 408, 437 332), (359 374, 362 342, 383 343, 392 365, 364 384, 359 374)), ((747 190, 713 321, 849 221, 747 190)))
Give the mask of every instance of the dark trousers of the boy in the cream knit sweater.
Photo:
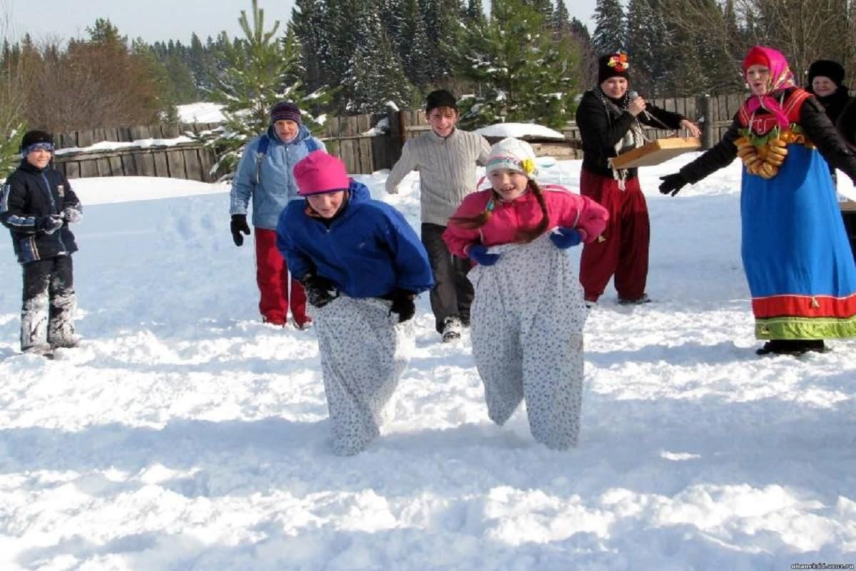
POLYGON ((449 252, 442 238, 445 229, 439 224, 422 224, 422 244, 434 272, 431 311, 434 312, 437 333, 443 332, 443 322, 449 317, 460 318, 468 324, 473 303, 473 284, 467 279, 470 260, 457 258, 449 252))

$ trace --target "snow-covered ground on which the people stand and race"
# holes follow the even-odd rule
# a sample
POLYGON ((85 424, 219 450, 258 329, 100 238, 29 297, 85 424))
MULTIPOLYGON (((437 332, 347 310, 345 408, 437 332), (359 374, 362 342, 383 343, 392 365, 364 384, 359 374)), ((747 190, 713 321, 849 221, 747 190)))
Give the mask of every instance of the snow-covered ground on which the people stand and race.
MULTIPOLYGON (((856 342, 754 354, 739 165, 660 196, 688 158, 643 170, 655 302, 610 288, 591 313, 580 447, 563 453, 525 411, 490 424, 468 336, 439 343, 423 296, 383 437, 332 455, 314 332, 259 323, 226 187, 72 181, 82 347, 17 354, 20 269, 0 241, 0 568, 856 563, 856 342)), ((575 188, 579 170, 543 180, 575 188)), ((385 173, 360 179, 417 223, 416 173, 391 197, 385 173)))

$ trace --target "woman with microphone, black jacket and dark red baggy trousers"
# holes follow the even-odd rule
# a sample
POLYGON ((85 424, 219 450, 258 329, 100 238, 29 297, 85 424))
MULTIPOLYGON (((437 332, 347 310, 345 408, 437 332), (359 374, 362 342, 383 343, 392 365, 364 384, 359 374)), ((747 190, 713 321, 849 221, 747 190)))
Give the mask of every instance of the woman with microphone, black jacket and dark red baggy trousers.
POLYGON ((648 104, 629 91, 627 54, 608 54, 597 62, 598 85, 586 92, 577 108, 577 126, 583 147, 580 193, 609 211, 603 237, 586 244, 580 258, 580 283, 586 304, 593 306, 615 276, 619 303, 648 301, 648 247, 651 239, 648 205, 639 187, 636 169, 615 170, 609 158, 642 146, 642 125, 698 128, 684 116, 648 104))

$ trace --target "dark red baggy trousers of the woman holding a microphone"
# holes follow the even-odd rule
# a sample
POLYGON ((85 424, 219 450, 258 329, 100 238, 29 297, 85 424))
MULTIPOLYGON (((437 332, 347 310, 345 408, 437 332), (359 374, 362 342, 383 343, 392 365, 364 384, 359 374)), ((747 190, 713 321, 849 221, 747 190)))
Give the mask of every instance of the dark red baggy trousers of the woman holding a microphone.
POLYGON ((620 299, 639 299, 645 294, 651 241, 648 205, 639 178, 628 179, 621 190, 614 178, 583 169, 580 194, 609 211, 609 222, 603 230, 605 240, 586 244, 580 258, 580 283, 586 300, 597 301, 613 275, 620 299))

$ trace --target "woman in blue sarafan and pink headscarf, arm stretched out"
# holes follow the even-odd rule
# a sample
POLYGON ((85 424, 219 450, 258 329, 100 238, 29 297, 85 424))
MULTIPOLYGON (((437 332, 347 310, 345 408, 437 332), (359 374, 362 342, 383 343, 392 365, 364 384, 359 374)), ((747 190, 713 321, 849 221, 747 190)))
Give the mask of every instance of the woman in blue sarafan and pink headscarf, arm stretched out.
POLYGON ((768 340, 758 354, 823 352, 824 339, 856 337, 856 264, 827 164, 856 180, 856 156, 780 52, 755 46, 743 69, 752 95, 728 132, 660 192, 740 157, 741 255, 755 336, 768 340))

